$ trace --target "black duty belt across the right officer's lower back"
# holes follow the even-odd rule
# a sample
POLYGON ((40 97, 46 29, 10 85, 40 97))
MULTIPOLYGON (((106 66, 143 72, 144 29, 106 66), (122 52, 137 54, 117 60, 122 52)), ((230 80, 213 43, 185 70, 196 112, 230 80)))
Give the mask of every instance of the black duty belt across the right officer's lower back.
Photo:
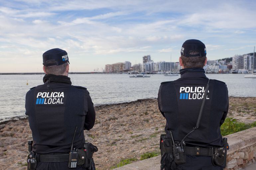
POLYGON ((205 148, 199 146, 183 146, 185 153, 187 155, 196 155, 196 156, 212 156, 213 147, 205 148))

